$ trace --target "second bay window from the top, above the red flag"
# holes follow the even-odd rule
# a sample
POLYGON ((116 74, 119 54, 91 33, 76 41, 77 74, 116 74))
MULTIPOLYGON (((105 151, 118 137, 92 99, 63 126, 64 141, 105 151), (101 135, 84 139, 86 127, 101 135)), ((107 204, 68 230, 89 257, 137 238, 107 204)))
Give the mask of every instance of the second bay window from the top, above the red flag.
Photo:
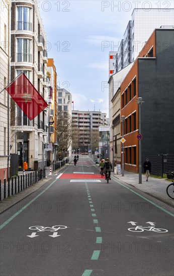
POLYGON ((31 41, 29 39, 18 38, 18 62, 32 62, 31 41))

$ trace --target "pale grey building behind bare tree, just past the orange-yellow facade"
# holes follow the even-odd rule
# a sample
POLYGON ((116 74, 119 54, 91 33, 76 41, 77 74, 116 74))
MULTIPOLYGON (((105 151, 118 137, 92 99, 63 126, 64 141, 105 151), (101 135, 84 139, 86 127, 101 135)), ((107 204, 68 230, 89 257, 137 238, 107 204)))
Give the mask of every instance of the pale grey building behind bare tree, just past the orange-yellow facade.
MULTIPOLYGON (((64 150, 69 153, 69 157, 72 155, 72 95, 69 91, 64 88, 61 88, 57 85, 57 118, 59 120, 62 119, 64 122, 67 121, 67 126, 65 127, 65 135, 64 142, 66 141, 66 145, 64 145, 64 150), (67 133, 66 133, 67 132, 67 133)), ((59 135, 58 127, 58 136, 59 140, 62 139, 62 135, 59 135)), ((60 141, 58 141, 59 144, 60 141)), ((61 143, 60 143, 61 145, 61 143)), ((60 149, 61 151, 63 149, 60 149)))

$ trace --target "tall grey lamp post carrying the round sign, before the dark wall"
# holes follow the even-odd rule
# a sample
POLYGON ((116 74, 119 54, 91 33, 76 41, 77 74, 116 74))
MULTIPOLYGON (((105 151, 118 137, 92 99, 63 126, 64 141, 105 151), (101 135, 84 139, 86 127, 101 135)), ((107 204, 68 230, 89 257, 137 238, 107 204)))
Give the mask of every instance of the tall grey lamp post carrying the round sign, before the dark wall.
MULTIPOLYGON (((138 103, 138 132, 141 134, 141 104, 142 98, 137 99, 138 103)), ((141 139, 138 140, 138 173, 139 173, 139 184, 142 184, 142 165, 141 165, 141 139)))

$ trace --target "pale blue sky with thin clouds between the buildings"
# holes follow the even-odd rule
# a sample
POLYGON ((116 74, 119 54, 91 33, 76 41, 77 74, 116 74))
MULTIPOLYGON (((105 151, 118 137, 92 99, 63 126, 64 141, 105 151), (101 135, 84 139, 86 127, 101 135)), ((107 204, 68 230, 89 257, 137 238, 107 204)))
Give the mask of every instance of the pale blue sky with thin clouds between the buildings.
POLYGON ((173 1, 39 0, 54 59, 57 85, 72 94, 74 110, 109 116, 109 52, 118 45, 134 9, 173 8, 173 1), (107 47, 105 47, 107 46, 107 47))

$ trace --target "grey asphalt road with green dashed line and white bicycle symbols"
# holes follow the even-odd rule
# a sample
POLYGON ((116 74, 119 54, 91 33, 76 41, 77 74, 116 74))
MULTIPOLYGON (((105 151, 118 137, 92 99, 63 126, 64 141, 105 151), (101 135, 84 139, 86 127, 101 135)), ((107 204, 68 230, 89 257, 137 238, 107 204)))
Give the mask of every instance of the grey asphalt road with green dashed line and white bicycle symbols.
POLYGON ((49 177, 1 215, 1 276, 173 276, 171 207, 88 157, 49 177))

